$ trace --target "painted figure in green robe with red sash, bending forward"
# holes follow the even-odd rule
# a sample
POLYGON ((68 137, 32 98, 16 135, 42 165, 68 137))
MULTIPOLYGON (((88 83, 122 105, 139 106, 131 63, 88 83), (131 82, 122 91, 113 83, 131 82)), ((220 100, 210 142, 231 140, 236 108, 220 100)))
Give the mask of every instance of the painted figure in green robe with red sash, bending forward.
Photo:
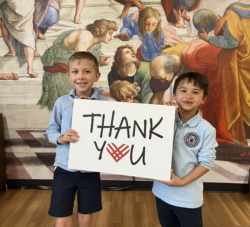
POLYGON ((101 42, 112 40, 113 32, 117 31, 117 24, 109 20, 96 20, 86 29, 63 32, 41 57, 44 65, 43 91, 38 101, 41 107, 53 109, 54 103, 72 89, 68 80, 68 60, 74 52, 88 51, 97 59, 99 66, 109 64, 110 56, 101 52, 101 42))

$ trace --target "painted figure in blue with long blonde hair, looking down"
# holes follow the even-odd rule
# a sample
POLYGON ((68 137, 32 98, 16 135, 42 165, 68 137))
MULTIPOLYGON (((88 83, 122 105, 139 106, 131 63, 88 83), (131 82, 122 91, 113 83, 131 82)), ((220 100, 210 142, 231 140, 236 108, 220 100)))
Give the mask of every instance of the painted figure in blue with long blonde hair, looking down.
POLYGON ((162 23, 159 12, 150 7, 143 9, 139 15, 135 13, 124 17, 120 32, 115 38, 122 41, 128 41, 134 35, 141 39, 142 45, 136 53, 141 61, 152 61, 165 45, 173 46, 182 43, 175 29, 162 23))

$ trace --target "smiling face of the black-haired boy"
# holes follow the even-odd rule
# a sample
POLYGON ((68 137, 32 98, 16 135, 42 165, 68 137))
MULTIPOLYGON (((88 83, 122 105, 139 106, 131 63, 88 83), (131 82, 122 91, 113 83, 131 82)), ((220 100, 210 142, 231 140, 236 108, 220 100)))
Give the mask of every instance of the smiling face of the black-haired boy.
POLYGON ((194 86, 192 81, 188 83, 188 79, 185 79, 180 81, 174 94, 174 100, 178 104, 179 111, 195 115, 199 105, 203 104, 206 98, 204 98, 203 90, 194 86))

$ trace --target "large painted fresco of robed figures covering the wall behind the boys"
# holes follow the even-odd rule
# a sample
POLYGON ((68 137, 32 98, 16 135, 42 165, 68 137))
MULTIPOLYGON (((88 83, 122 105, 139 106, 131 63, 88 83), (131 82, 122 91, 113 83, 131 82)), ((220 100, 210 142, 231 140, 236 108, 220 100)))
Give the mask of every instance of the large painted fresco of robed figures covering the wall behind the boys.
MULTIPOLYGON (((162 105, 175 79, 210 82, 204 119, 217 131, 217 159, 204 182, 248 183, 250 0, 0 0, 0 112, 8 179, 52 179, 46 128, 56 99, 72 89, 68 59, 96 56, 98 92, 162 105)), ((131 177, 102 174, 103 180, 131 177)), ((136 180, 147 180, 136 178, 136 180)))

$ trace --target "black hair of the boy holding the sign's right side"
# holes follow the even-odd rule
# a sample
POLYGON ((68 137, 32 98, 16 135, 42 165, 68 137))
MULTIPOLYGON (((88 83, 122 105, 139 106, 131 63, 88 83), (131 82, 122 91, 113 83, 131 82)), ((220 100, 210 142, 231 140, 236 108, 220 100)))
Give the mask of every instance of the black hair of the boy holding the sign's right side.
POLYGON ((187 72, 178 76, 174 84, 174 89, 173 89, 174 94, 176 93, 176 89, 179 83, 185 79, 188 79, 188 83, 193 83, 194 86, 198 86, 201 90, 203 90, 204 92, 203 97, 207 96, 209 90, 209 81, 207 80, 206 77, 197 72, 187 72))

